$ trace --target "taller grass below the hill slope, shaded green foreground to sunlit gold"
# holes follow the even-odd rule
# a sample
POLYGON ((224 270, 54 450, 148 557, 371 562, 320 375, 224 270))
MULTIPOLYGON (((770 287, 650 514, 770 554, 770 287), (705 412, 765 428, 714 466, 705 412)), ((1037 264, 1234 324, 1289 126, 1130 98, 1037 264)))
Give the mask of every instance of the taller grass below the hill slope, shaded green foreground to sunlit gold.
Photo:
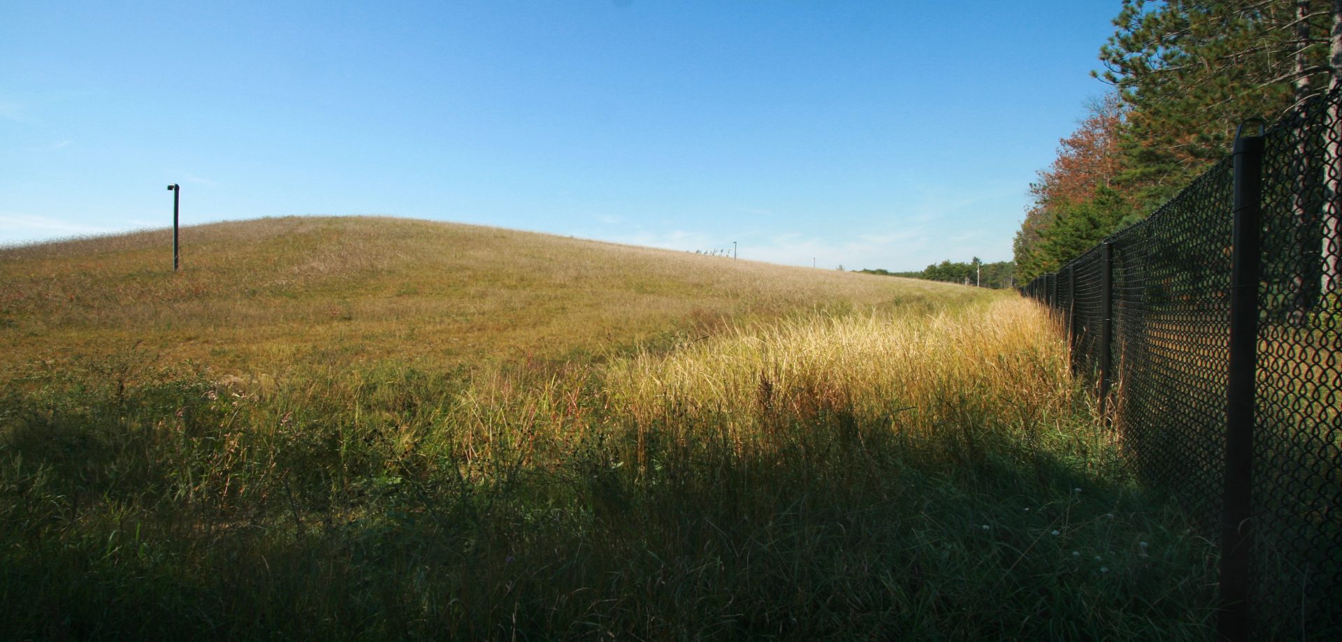
POLYGON ((609 363, 157 363, 12 370, 0 635, 1209 635, 1212 547, 1027 302, 609 363))

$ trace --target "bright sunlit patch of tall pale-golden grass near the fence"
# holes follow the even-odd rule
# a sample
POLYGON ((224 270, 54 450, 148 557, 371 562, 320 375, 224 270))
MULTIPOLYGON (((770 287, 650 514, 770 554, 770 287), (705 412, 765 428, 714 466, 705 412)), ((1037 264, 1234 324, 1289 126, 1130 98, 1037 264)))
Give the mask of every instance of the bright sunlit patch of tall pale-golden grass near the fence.
POLYGON ((1004 421, 1028 409, 1029 424, 1041 425, 1072 403, 1067 346, 1056 334, 1033 303, 1016 298, 925 315, 821 315, 643 354, 613 365, 608 378, 643 424, 670 406, 721 414, 741 436, 758 434, 773 414, 835 409, 929 432, 929 420, 957 399, 989 403, 1004 421))

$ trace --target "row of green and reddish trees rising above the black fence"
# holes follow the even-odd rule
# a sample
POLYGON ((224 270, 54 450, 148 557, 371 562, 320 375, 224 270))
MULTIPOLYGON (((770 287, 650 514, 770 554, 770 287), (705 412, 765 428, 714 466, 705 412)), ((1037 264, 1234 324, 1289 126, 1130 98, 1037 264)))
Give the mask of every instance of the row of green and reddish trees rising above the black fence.
POLYGON ((1123 0, 1114 25, 1092 72, 1111 91, 1029 186, 1020 283, 1155 210, 1229 153, 1244 121, 1342 87, 1342 0, 1123 0))

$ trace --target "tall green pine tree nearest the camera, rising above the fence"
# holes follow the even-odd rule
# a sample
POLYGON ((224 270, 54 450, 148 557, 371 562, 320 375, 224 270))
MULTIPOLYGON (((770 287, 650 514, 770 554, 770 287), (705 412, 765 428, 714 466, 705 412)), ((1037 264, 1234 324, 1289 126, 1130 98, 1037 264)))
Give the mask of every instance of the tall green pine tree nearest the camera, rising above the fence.
POLYGON ((1125 189, 1155 209, 1227 154, 1241 122, 1322 90, 1330 21, 1327 0, 1123 0, 1095 75, 1129 106, 1125 189))

